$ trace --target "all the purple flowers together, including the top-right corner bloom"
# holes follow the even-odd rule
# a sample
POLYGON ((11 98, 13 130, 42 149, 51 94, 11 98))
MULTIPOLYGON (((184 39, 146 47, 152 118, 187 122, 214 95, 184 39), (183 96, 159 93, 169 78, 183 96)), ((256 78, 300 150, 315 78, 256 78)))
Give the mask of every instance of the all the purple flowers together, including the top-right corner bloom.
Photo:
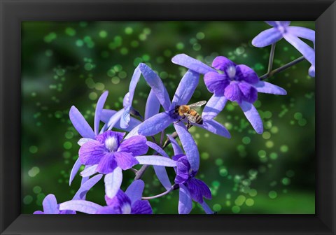
MULTIPOLYGON (((285 38, 299 50, 311 63, 309 74, 314 76, 314 49, 301 41, 299 37, 315 41, 314 31, 302 27, 290 27, 289 22, 270 22, 272 29, 262 31, 253 38, 256 47, 274 45, 285 38)), ((206 129, 213 134, 230 138, 230 133, 223 124, 214 120, 223 111, 228 101, 236 102, 253 129, 258 134, 263 132, 262 119, 253 103, 258 99, 258 92, 286 95, 283 88, 267 83, 245 64, 235 64, 230 59, 218 56, 211 66, 193 57, 181 54, 172 58, 174 64, 188 69, 179 83, 172 99, 162 80, 146 64, 139 64, 134 70, 130 87, 123 99, 120 111, 104 109, 108 92, 104 92, 97 101, 93 129, 75 106, 70 108, 69 118, 73 127, 82 138, 79 139, 78 159, 71 170, 69 183, 77 175, 80 166, 82 183, 76 195, 70 201, 57 204, 53 194, 43 201, 43 211, 36 214, 151 214, 150 200, 163 197, 174 190, 179 190, 180 214, 190 213, 193 201, 200 204, 205 213, 214 213, 205 199, 211 199, 211 190, 202 180, 197 179, 200 169, 200 153, 189 129, 193 126, 206 129), (213 95, 209 101, 189 104, 201 78, 207 90, 213 95), (148 94, 144 115, 133 106, 134 92, 141 76, 151 87, 148 94), (194 108, 204 105, 200 115, 194 108), (160 107, 163 111, 160 113, 160 107), (143 118, 144 117, 144 118, 143 118), (101 127, 101 122, 104 124, 101 127), (165 130, 172 125, 173 134, 165 130), (161 133, 161 141, 155 141, 155 135, 161 133), (176 141, 179 138, 181 145, 176 141), (172 144, 174 155, 165 152, 172 144), (149 153, 153 152, 153 153, 149 153), (134 166, 141 165, 139 170, 134 166), (155 174, 166 191, 152 197, 144 197, 145 183, 141 180, 148 166, 153 166, 155 174), (174 184, 169 180, 166 167, 175 172, 174 184), (123 171, 134 171, 134 181, 123 192, 123 171), (87 201, 87 192, 102 178, 105 183, 106 206, 87 201)))

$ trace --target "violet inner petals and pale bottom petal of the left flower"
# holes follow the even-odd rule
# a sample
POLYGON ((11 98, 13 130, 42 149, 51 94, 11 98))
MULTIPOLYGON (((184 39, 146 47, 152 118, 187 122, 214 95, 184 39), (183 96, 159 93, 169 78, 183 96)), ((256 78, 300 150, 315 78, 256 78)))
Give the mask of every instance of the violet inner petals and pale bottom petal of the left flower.
POLYGON ((145 136, 133 136, 123 141, 124 135, 105 131, 96 136, 95 140, 84 143, 78 152, 80 163, 89 166, 80 175, 87 177, 97 172, 106 174, 105 192, 111 198, 117 194, 123 181, 122 170, 139 164, 135 157, 148 151, 145 136))

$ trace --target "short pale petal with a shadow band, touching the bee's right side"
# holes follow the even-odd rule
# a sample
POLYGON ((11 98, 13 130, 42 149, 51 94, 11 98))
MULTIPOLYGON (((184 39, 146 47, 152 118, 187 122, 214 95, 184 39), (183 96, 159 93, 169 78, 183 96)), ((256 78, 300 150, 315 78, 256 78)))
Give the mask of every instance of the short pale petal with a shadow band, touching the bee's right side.
POLYGON ((214 94, 207 102, 207 105, 204 107, 202 118, 204 120, 210 120, 215 118, 218 113, 223 111, 223 108, 225 107, 227 101, 228 99, 226 99, 223 95, 217 96, 216 94, 214 94))

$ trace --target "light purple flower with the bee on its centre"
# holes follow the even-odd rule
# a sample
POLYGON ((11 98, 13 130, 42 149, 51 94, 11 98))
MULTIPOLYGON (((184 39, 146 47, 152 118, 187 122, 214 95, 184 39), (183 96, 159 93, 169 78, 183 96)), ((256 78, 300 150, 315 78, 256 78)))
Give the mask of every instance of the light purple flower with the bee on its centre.
MULTIPOLYGON (((126 136, 126 138, 128 138, 129 136, 134 136, 135 134, 141 134, 143 136, 153 136, 155 134, 158 134, 160 131, 166 129, 170 124, 180 120, 181 117, 174 112, 175 107, 188 104, 191 97, 193 96, 193 93, 195 92, 200 78, 199 73, 191 70, 187 71, 187 73, 181 79, 181 82, 179 83, 179 86, 177 87, 171 102, 169 94, 162 81, 160 80, 158 74, 155 73, 146 64, 140 64, 139 69, 147 81, 152 81, 150 85, 152 87, 153 93, 156 95, 158 101, 160 101, 160 104, 165 109, 165 112, 158 113, 156 115, 153 115, 151 118, 148 118, 147 120, 139 124, 139 126, 134 128, 130 132, 130 134, 126 136)), ((146 110, 151 109, 151 104, 151 102, 147 103, 146 110)), ((202 115, 202 118, 203 124, 195 124, 197 127, 202 127, 203 129, 207 129, 214 134, 230 138, 230 133, 228 132, 228 130, 225 129, 223 125, 213 120, 214 117, 210 118, 202 115)), ((177 124, 174 123, 174 127, 176 127, 176 125, 177 124)))

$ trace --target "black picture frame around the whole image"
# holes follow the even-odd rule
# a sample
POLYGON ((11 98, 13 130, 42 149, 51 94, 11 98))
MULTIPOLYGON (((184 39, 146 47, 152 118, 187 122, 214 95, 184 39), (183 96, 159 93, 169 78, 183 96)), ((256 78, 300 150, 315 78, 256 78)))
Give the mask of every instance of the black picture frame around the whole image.
MULTIPOLYGON (((0 0, 1 234, 335 234, 336 3, 0 0), (20 31, 32 20, 315 20, 315 215, 20 215, 20 31)), ((309 173, 309 172, 307 172, 309 173)))

